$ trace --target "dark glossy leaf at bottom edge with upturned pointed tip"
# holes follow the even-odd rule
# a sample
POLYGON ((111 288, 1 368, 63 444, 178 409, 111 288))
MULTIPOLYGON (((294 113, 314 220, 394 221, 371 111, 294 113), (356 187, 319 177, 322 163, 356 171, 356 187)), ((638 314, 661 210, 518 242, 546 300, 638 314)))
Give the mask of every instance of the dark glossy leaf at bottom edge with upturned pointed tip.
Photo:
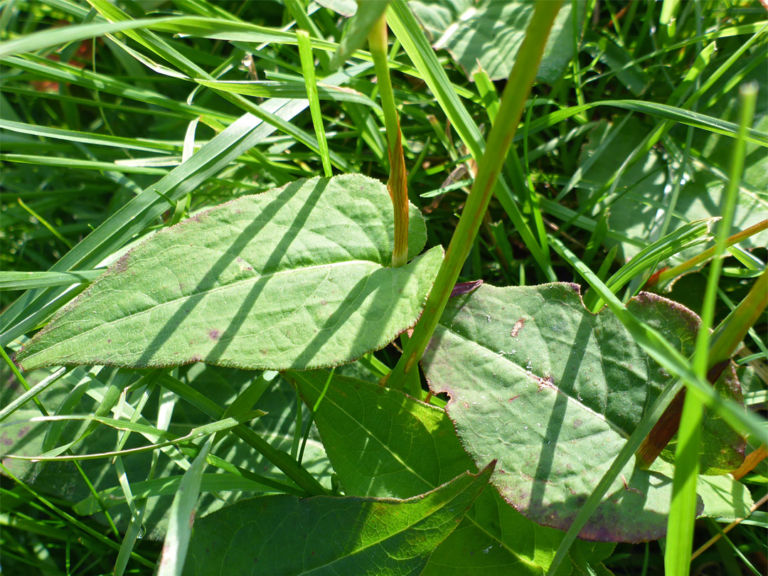
POLYGON ((250 498, 195 523, 184 574, 420 574, 493 472, 408 500, 250 498))

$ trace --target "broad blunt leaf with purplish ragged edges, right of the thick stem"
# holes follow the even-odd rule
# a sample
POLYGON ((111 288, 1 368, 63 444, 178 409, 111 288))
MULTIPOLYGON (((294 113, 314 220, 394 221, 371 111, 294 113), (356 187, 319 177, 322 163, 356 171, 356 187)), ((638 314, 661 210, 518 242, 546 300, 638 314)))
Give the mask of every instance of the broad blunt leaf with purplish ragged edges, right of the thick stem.
MULTIPOLYGON (((422 360, 432 390, 451 396, 445 409, 475 462, 498 459, 493 483, 505 499, 561 529, 671 380, 610 311, 588 313, 577 288, 480 286, 449 303, 422 360)), ((694 313, 647 293, 627 310, 690 355, 694 313)), ((717 388, 740 399, 731 374, 717 388)), ((702 472, 743 459, 743 439, 714 414, 702 439, 702 472)), ((581 537, 659 538, 670 488, 670 478, 627 465, 581 537)))

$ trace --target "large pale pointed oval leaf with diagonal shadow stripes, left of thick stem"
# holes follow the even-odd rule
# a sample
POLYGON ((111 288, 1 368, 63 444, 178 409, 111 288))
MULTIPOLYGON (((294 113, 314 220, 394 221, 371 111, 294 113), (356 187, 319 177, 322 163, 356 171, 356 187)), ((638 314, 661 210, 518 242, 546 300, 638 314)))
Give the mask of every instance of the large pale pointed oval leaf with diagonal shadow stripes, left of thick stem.
MULTIPOLYGON (((409 257, 425 243, 410 210, 409 257)), ((41 366, 335 366, 382 348, 422 312, 435 247, 386 267, 392 200, 378 180, 298 180, 155 234, 15 357, 41 366)))

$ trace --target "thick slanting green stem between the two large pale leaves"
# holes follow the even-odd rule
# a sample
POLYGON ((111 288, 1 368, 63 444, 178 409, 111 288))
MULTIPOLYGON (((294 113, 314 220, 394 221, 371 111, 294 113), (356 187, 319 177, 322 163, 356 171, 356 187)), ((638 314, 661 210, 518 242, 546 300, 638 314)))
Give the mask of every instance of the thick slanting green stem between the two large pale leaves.
POLYGON ((536 2, 533 18, 525 32, 525 40, 515 56, 515 65, 509 74, 498 116, 491 134, 488 135, 488 144, 478 163, 475 184, 472 184, 462 217, 458 220, 458 226, 445 253, 445 260, 429 293, 422 319, 413 330, 413 335, 406 349, 403 350, 397 366, 389 374, 387 384, 392 388, 402 389, 409 374, 421 359, 442 311, 445 310, 445 304, 451 296, 458 273, 467 259, 469 250, 472 249, 472 243, 482 223, 483 214, 488 208, 498 174, 502 170, 512 138, 515 137, 523 104, 531 92, 531 85, 536 78, 549 29, 554 22, 554 17, 558 14, 560 5, 561 0, 537 0, 536 2))

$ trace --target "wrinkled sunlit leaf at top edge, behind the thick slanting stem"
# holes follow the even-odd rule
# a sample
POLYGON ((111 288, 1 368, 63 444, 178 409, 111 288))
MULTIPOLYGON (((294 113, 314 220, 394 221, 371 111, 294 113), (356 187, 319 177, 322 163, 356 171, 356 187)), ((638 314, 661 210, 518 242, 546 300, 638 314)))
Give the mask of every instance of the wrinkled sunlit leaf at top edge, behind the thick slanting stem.
MULTIPOLYGON (((479 66, 491 80, 508 77, 534 9, 533 2, 521 0, 413 0, 408 5, 435 50, 446 48, 467 78, 472 79, 479 66)), ((584 3, 579 2, 579 29, 583 19, 584 3)), ((571 2, 565 2, 552 25, 538 80, 549 84, 558 81, 574 55, 573 32, 571 2)))

